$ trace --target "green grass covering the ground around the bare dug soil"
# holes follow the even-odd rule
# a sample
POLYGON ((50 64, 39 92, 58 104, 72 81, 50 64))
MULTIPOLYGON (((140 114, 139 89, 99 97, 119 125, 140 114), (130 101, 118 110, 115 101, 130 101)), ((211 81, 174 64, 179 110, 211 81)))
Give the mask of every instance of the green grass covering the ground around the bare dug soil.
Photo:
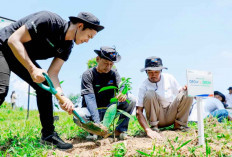
MULTIPOLYGON (((87 135, 73 123, 72 116, 66 112, 56 112, 59 121, 55 122, 56 131, 63 139, 83 138, 87 135)), ((40 144, 41 125, 39 113, 27 112, 22 108, 11 110, 8 104, 0 107, 0 156, 47 156, 56 154, 51 146, 40 144)), ((197 130, 196 123, 190 123, 193 130, 197 130)), ((172 126, 171 126, 172 127, 172 126)), ((164 128, 165 132, 171 127, 164 128)), ((128 133, 140 136, 143 133, 137 119, 131 119, 128 133)), ((198 146, 196 131, 180 133, 179 136, 167 137, 161 143, 154 142, 149 149, 136 150, 135 156, 231 156, 232 155, 232 123, 224 121, 218 123, 214 118, 205 120, 206 146, 198 146)), ((115 144, 112 147, 112 156, 124 156, 128 151, 124 143, 115 144)))

